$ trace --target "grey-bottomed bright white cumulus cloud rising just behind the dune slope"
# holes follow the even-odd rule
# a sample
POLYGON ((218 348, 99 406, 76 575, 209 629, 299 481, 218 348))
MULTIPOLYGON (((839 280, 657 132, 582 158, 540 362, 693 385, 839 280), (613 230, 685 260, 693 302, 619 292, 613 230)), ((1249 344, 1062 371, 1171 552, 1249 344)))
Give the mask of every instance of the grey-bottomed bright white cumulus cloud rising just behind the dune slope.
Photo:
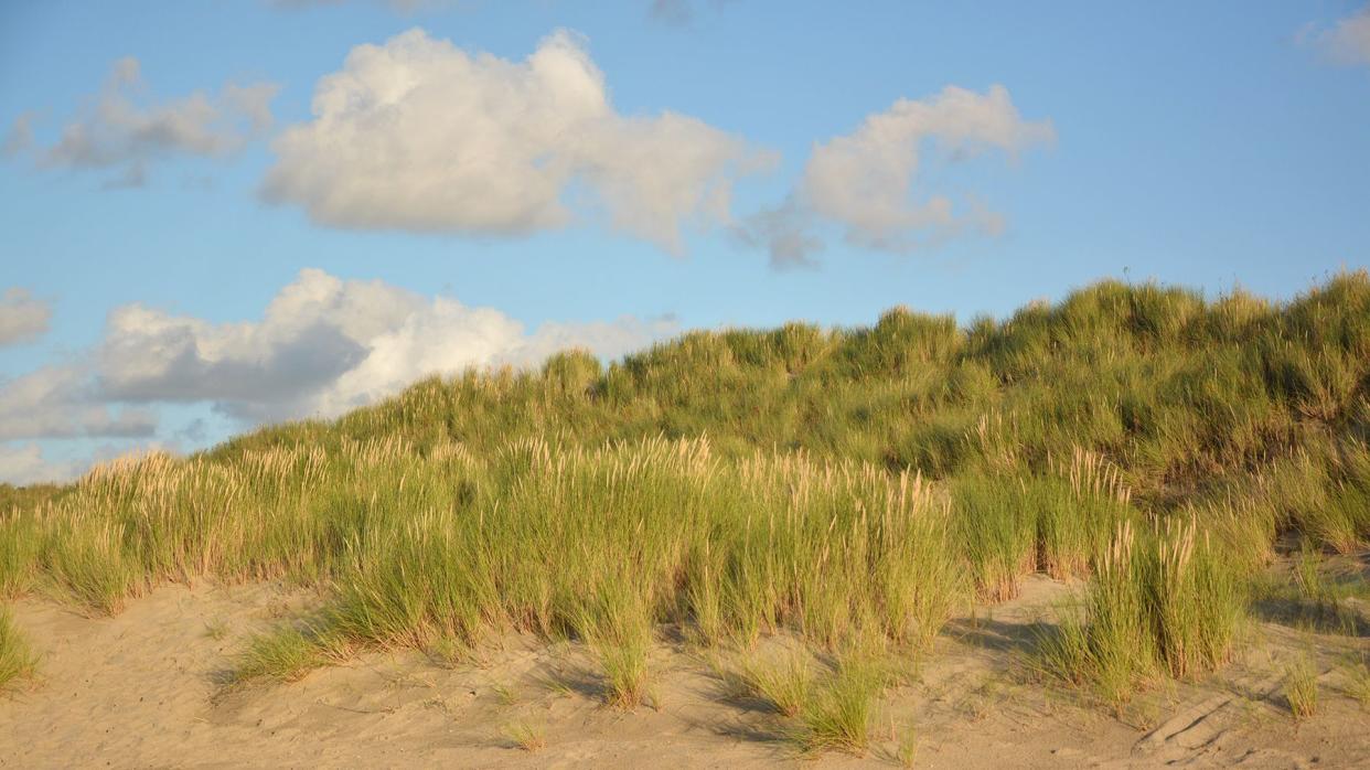
POLYGON ((429 374, 534 366, 569 347, 614 358, 673 332, 673 322, 634 318, 530 332, 493 308, 303 270, 258 322, 116 310, 100 386, 122 401, 212 401, 248 422, 334 417, 429 374))

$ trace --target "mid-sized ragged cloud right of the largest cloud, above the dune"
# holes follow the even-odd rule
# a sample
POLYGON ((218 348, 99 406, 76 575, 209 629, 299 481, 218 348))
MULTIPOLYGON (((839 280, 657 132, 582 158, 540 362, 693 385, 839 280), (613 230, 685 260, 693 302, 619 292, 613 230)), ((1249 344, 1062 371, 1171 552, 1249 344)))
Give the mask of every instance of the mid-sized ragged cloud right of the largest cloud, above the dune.
POLYGON ((900 99, 845 136, 817 144, 790 200, 736 232, 767 241, 774 264, 801 264, 821 248, 817 223, 838 226, 847 243, 907 252, 963 233, 996 234, 1003 216, 977 197, 954 200, 926 189, 929 159, 948 166, 986 151, 1008 156, 1052 141, 1049 121, 1025 121, 1003 86, 977 93, 947 86, 929 99, 900 99))

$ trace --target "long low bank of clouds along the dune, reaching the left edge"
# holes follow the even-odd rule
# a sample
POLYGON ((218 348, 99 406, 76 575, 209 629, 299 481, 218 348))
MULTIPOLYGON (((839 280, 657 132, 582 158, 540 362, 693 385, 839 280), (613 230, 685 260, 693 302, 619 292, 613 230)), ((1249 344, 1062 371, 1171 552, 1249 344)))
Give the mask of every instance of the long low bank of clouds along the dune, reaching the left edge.
MULTIPOLYGON (((529 369, 569 348, 621 358, 680 330, 670 318, 548 322, 425 297, 384 281, 301 270, 259 321, 211 323, 115 308, 82 363, 0 380, 0 441, 152 438, 158 407, 210 404, 240 427, 333 418, 429 375, 529 369)), ((3 445, 0 445, 3 447, 3 445)), ((0 481, 68 478, 79 463, 38 463, 34 444, 0 454, 0 481)))

